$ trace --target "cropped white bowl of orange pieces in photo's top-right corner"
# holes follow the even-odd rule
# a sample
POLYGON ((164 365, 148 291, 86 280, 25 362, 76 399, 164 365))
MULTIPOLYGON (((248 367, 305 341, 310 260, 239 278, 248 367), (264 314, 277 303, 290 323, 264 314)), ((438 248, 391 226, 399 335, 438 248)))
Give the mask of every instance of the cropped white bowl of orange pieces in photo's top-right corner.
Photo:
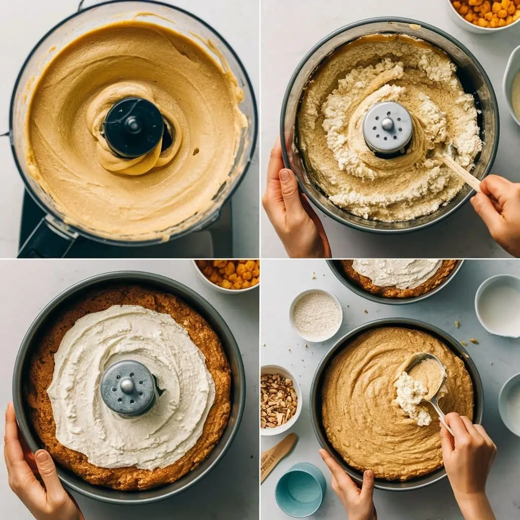
POLYGON ((520 20, 520 0, 447 0, 451 18, 467 31, 485 34, 520 20))

